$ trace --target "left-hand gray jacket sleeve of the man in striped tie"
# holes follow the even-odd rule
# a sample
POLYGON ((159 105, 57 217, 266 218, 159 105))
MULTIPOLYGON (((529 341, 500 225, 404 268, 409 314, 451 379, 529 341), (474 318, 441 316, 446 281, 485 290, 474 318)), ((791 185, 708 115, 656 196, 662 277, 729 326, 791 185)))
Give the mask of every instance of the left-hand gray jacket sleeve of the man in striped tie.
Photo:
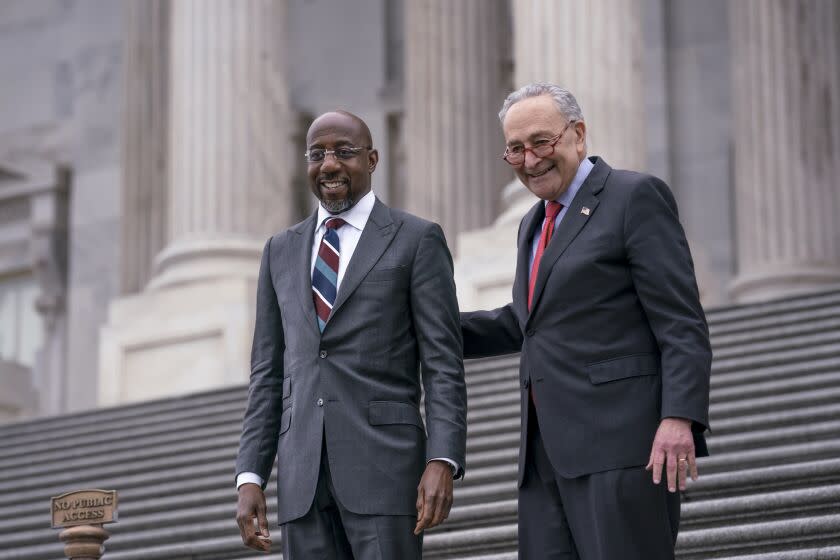
POLYGON ((265 489, 277 453, 283 391, 283 323, 271 281, 271 239, 265 244, 257 279, 257 309, 251 347, 248 405, 236 457, 236 474, 258 475, 265 489))

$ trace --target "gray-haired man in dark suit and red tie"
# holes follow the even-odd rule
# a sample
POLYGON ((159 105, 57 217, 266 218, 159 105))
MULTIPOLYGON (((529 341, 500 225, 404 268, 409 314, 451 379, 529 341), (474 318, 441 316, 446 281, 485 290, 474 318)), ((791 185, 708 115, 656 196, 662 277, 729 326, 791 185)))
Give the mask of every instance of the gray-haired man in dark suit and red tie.
POLYGON ((519 227, 513 302, 461 328, 466 357, 522 353, 519 556, 672 559, 711 369, 676 203, 656 177, 586 158, 562 88, 525 86, 499 117, 540 201, 519 227))

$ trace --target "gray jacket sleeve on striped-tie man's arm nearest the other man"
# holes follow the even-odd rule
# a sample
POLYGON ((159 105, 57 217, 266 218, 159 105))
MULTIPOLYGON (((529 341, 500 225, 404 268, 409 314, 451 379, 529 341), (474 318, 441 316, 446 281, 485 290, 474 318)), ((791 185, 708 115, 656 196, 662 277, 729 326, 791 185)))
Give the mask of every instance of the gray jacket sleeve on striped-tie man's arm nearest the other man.
POLYGON ((437 224, 429 226, 417 248, 410 304, 426 398, 426 459, 446 457, 463 469, 467 437, 463 343, 452 257, 437 224))

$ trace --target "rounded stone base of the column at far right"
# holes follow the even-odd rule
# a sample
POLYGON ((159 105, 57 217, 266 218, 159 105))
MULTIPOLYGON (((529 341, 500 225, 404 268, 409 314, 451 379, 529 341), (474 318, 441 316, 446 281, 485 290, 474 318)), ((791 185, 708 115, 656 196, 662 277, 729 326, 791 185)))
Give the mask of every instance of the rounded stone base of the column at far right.
POLYGON ((840 268, 779 264, 739 274, 730 286, 738 303, 753 303, 840 287, 840 268))

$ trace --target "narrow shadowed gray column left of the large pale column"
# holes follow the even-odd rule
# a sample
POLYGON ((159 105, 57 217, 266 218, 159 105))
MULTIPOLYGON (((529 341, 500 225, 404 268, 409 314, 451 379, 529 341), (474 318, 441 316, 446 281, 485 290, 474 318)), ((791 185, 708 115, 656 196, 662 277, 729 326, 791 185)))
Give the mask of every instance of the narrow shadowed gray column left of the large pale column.
POLYGON ((170 0, 125 10, 120 290, 141 291, 167 234, 170 0))

